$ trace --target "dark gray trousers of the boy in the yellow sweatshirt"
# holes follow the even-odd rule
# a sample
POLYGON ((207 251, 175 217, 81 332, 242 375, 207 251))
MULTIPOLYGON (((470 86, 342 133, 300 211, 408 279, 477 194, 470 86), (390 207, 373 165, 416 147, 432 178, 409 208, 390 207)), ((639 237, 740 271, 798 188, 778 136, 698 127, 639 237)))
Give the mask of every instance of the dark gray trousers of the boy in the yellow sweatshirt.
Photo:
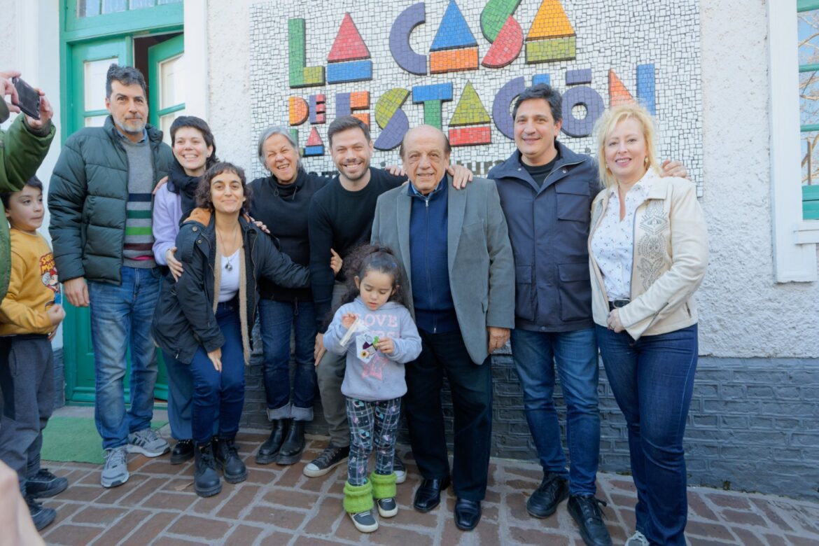
POLYGON ((0 388, 6 408, 0 421, 0 460, 20 484, 40 470, 43 429, 54 409, 54 361, 48 336, 0 338, 0 388))

